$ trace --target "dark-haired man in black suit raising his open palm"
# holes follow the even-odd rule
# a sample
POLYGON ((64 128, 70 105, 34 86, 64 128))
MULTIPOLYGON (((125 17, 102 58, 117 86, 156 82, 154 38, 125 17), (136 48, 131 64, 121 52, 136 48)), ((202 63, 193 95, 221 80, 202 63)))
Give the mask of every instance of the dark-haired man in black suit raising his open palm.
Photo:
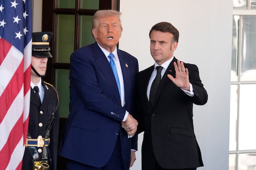
POLYGON ((204 105, 207 91, 198 67, 177 60, 179 32, 157 23, 149 32, 155 64, 137 76, 137 133, 144 131, 143 170, 196 170, 203 166, 193 128, 193 104, 204 105))

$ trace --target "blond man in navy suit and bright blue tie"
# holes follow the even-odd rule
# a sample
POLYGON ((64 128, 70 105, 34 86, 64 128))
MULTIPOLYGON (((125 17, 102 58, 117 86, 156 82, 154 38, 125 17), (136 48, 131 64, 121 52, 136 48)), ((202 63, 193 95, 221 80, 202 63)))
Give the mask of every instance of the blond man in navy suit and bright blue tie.
POLYGON ((68 170, 128 170, 137 150, 131 114, 138 62, 116 48, 119 12, 97 11, 92 33, 96 42, 70 57, 70 114, 60 155, 68 170))

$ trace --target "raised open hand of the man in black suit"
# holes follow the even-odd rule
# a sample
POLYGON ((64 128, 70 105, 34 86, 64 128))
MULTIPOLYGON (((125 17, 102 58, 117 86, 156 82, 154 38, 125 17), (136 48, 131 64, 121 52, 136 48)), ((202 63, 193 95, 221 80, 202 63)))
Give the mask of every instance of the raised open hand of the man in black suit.
POLYGON ((175 78, 172 75, 168 74, 167 77, 172 80, 172 82, 177 85, 177 87, 182 88, 183 90, 190 91, 189 85, 189 70, 184 67, 184 63, 177 60, 177 63, 174 62, 175 68, 175 78))

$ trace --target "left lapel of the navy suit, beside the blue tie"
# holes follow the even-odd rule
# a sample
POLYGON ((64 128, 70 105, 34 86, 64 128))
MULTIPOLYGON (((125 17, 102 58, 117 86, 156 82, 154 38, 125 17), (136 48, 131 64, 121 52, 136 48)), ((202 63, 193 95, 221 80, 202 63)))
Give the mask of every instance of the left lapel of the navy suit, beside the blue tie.
POLYGON ((121 105, 121 99, 119 96, 118 87, 116 85, 115 76, 108 62, 108 59, 106 58, 105 54, 102 52, 102 50, 99 48, 96 42, 93 44, 93 54, 96 59, 96 64, 98 65, 102 74, 104 75, 104 77, 106 77, 109 85, 111 86, 111 90, 113 91, 116 101, 118 101, 121 105))

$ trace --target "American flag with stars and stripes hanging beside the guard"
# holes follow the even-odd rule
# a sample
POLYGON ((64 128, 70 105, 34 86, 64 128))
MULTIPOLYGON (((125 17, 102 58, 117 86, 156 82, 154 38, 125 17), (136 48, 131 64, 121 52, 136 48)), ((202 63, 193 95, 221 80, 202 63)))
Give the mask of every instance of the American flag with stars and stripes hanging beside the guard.
POLYGON ((31 54, 32 0, 0 0, 0 170, 21 170, 31 54))

